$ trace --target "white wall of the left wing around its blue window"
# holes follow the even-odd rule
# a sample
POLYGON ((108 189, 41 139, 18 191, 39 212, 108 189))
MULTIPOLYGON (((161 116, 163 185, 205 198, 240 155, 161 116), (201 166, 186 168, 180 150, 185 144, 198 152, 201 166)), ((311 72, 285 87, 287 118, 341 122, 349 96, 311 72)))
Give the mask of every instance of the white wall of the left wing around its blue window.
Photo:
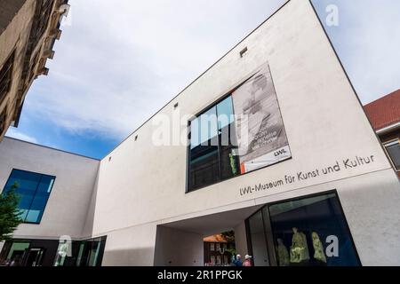
POLYGON ((59 240, 60 236, 69 235, 80 240, 84 237, 99 161, 12 138, 2 141, 0 161, 2 190, 12 169, 56 177, 40 225, 22 224, 14 232, 14 238, 59 240))

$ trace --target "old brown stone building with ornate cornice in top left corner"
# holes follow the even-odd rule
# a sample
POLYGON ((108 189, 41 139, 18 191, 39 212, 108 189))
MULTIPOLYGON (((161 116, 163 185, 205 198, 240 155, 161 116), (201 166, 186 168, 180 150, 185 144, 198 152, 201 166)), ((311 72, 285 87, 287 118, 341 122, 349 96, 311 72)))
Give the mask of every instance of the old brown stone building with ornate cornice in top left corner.
POLYGON ((0 0, 0 141, 17 127, 29 87, 47 75, 68 0, 0 0))

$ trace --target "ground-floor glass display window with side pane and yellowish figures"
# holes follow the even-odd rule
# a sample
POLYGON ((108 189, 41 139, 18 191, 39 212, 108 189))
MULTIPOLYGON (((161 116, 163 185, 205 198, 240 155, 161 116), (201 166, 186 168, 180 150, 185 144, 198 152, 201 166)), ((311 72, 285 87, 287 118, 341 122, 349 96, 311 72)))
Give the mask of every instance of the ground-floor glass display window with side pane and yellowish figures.
POLYGON ((336 193, 267 205, 247 227, 257 266, 360 265, 336 193))

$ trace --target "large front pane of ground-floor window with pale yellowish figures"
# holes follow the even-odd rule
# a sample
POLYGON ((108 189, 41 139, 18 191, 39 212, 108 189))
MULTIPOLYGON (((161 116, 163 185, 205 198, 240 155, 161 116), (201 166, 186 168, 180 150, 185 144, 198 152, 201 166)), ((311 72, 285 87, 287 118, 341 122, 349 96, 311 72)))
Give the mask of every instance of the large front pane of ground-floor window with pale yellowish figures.
POLYGON ((336 193, 278 203, 269 213, 278 264, 359 265, 336 193), (337 256, 326 253, 332 237, 337 256))

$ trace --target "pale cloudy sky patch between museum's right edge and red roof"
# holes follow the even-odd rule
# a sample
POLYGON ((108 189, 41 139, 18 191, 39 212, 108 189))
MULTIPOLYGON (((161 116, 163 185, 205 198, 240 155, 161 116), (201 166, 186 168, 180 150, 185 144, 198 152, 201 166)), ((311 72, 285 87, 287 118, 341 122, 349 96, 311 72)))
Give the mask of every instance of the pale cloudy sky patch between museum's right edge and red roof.
POLYGON ((317 0, 337 4, 340 26, 327 31, 364 104, 400 88, 400 1, 317 0))

